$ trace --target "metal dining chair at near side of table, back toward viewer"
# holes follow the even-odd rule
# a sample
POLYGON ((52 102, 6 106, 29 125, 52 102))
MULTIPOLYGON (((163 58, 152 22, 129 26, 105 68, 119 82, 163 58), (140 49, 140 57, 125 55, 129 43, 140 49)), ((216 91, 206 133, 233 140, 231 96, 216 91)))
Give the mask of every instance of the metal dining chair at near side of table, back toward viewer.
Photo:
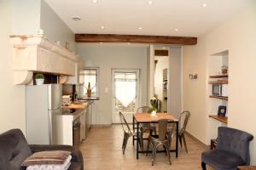
MULTIPOLYGON (((174 125, 174 124, 173 124, 174 125)), ((172 165, 171 155, 170 155, 170 148, 172 144, 172 133, 174 126, 172 126, 172 130, 168 131, 168 120, 161 119, 159 121, 159 131, 158 135, 150 135, 148 138, 148 146, 147 150, 149 150, 149 144, 152 145, 152 166, 154 166, 154 158, 156 156, 157 149, 162 145, 166 150, 166 154, 168 155, 168 160, 170 165, 172 165)), ((146 154, 148 156, 148 153, 146 154)))

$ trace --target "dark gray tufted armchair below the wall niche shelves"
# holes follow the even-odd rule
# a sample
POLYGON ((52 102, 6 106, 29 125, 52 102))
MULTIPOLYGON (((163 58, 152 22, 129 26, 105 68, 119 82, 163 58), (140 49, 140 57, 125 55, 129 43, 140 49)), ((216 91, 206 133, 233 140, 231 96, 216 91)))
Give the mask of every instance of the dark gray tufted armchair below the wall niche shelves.
POLYGON ((236 170, 237 166, 250 164, 249 143, 253 140, 250 133, 230 127, 218 127, 217 149, 201 154, 201 167, 206 164, 216 170, 236 170))

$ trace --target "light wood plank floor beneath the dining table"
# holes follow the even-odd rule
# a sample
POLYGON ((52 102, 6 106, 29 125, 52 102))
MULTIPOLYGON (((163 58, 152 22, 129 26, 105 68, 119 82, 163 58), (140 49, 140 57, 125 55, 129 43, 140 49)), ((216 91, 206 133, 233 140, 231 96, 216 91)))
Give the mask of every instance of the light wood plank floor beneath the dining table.
MULTIPOLYGON (((80 150, 84 156, 85 170, 199 170, 201 169, 201 152, 205 148, 189 136, 186 136, 186 139, 189 153, 186 153, 184 148, 179 148, 176 158, 175 153, 172 152, 172 165, 169 165, 165 153, 157 153, 153 167, 151 154, 148 156, 140 154, 139 159, 136 159, 136 145, 132 145, 132 139, 129 139, 123 155, 121 149, 123 130, 120 125, 91 128, 80 150)), ((172 142, 172 148, 174 144, 172 142)))

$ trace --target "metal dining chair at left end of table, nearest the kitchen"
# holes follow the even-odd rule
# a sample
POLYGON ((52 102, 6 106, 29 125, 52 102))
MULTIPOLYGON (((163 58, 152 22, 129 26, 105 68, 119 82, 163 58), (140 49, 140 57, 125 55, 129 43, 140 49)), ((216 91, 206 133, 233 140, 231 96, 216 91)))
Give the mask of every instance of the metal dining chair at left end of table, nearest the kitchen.
MULTIPOLYGON (((131 128, 129 127, 125 116, 123 115, 123 113, 121 111, 119 111, 119 118, 120 118, 120 122, 124 131, 124 139, 123 139, 123 144, 122 144, 122 150, 123 150, 123 154, 125 154, 125 149, 126 149, 126 145, 127 145, 127 141, 131 136, 137 136, 137 133, 140 133, 140 131, 138 130, 137 133, 132 133, 131 132, 131 128)), ((140 135, 138 135, 140 136, 140 135)), ((142 139, 137 139, 139 141, 140 147, 142 148, 142 139)))

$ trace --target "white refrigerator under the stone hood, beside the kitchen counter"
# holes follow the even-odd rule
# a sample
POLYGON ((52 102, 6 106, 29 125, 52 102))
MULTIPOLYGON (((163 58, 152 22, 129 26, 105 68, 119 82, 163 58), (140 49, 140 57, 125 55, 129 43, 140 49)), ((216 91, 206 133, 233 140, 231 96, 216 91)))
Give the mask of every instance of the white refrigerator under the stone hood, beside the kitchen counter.
POLYGON ((26 86, 26 139, 28 144, 55 144, 53 117, 62 114, 62 85, 26 86))

